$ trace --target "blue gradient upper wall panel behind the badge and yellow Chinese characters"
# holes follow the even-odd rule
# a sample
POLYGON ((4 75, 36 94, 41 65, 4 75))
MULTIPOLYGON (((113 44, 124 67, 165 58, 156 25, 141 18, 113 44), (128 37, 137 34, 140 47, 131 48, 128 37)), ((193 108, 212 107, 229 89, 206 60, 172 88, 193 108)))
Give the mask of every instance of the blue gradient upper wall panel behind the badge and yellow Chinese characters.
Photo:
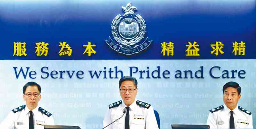
POLYGON ((255 59, 256 9, 254 0, 245 1, 2 1, 0 4, 0 59, 255 59), (110 49, 104 40, 111 36, 110 24, 121 6, 128 2, 137 7, 146 21, 153 44, 134 56, 110 49), (174 56, 164 57, 161 42, 174 42, 174 56), (196 41, 199 57, 186 57, 185 45, 196 41), (221 41, 225 53, 210 54, 210 44, 221 41), (246 43, 245 56, 234 56, 232 42, 246 43), (13 57, 13 42, 27 43, 27 57, 13 57), (36 57, 35 42, 48 42, 49 55, 36 57), (60 57, 59 42, 73 49, 71 57, 60 57), (83 56, 82 45, 96 44, 97 54, 83 56))

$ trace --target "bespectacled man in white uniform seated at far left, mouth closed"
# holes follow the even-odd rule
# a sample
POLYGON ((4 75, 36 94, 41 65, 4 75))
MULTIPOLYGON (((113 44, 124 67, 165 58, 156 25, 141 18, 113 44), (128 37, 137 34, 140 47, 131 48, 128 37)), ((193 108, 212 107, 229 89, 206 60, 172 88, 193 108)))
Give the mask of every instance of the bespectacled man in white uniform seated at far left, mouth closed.
POLYGON ((53 125, 52 114, 38 107, 41 87, 36 82, 28 82, 23 87, 23 100, 26 105, 13 109, 0 125, 0 129, 44 129, 53 125))

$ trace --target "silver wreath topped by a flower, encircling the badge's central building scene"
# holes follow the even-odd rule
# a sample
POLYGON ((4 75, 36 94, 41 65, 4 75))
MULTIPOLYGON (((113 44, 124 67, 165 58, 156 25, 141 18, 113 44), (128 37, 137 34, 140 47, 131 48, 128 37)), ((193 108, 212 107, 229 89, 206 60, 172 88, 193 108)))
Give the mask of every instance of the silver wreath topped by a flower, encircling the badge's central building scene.
MULTIPOLYGON (((137 10, 136 7, 131 6, 131 3, 128 3, 126 7, 122 6, 122 9, 125 12, 123 15, 124 17, 131 15, 132 18, 134 17, 134 11, 137 10)), ((131 45, 134 45, 140 42, 144 38, 144 35, 146 33, 146 23, 145 23, 145 20, 139 14, 136 14, 134 18, 139 23, 139 27, 140 27, 139 34, 135 38, 131 39, 130 41, 127 41, 121 38, 117 32, 118 24, 122 18, 123 18, 122 15, 118 14, 113 19, 111 23, 111 34, 113 35, 116 42, 118 42, 119 44, 125 45, 126 48, 132 48, 131 45)))

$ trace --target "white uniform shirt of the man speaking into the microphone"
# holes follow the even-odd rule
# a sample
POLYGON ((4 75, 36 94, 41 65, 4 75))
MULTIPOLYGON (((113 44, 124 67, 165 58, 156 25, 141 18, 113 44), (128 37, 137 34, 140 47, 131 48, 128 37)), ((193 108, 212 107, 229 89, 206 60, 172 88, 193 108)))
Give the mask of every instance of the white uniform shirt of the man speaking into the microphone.
MULTIPOLYGON (((129 106, 130 129, 158 129, 156 117, 152 106, 150 106, 148 109, 140 107, 136 104, 136 101, 138 100, 135 100, 129 106)), ((122 103, 118 107, 108 109, 106 116, 103 120, 103 127, 120 118, 124 114, 123 112, 126 111, 125 107, 127 106, 122 103)), ((125 115, 126 113, 121 119, 117 120, 105 129, 124 129, 125 115)))

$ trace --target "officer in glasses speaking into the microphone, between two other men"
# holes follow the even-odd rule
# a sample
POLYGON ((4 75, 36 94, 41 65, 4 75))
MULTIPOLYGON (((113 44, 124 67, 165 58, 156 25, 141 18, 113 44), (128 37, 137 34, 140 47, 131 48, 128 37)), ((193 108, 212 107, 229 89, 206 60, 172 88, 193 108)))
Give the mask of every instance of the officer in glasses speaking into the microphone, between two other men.
POLYGON ((152 106, 135 98, 138 88, 134 77, 122 77, 119 92, 123 102, 120 100, 108 106, 103 127, 117 120, 106 129, 158 129, 152 106), (122 115, 124 117, 120 118, 122 115))

